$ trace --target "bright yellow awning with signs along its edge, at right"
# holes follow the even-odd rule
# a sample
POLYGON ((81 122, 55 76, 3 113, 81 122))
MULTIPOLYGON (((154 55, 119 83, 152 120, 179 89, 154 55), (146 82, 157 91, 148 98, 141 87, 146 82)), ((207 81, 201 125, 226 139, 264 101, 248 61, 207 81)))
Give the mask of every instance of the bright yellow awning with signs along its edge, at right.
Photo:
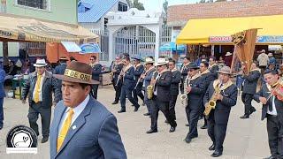
POLYGON ((232 44, 231 34, 251 28, 257 32, 256 44, 283 43, 283 15, 224 19, 190 19, 181 30, 176 43, 232 44))

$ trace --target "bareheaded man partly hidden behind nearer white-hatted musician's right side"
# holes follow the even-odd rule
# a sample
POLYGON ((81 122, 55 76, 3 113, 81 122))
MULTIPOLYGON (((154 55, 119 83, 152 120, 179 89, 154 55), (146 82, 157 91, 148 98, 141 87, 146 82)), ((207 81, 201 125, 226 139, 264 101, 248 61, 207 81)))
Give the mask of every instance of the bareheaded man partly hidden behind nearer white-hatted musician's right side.
MULTIPOLYGON (((169 60, 169 69, 172 72, 172 83, 171 83, 171 100, 169 102, 169 113, 173 117, 174 120, 176 120, 176 112, 175 112, 175 105, 177 101, 177 97, 179 95, 179 84, 181 79, 180 71, 176 68, 176 62, 173 59, 169 60)), ((165 121, 168 123, 168 121, 165 121)))

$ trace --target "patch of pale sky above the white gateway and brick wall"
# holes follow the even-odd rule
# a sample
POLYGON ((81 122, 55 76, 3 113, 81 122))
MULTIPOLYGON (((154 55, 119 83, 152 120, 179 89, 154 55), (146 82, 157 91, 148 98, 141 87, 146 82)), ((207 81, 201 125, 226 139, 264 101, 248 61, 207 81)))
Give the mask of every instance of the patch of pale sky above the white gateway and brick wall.
MULTIPOLYGON (((162 4, 165 0, 139 0, 144 6, 146 10, 155 11, 157 9, 162 9, 162 4)), ((176 4, 195 4, 200 0, 167 0, 168 5, 176 5, 176 4)))

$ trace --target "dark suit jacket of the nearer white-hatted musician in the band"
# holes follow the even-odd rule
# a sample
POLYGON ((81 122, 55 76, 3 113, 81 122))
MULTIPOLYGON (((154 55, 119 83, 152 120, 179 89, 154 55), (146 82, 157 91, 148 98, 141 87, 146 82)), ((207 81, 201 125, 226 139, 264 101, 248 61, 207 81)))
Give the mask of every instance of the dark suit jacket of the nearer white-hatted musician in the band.
MULTIPOLYGON (((154 79, 157 79, 158 72, 155 72, 154 79)), ((170 87, 172 83, 172 72, 163 72, 157 79, 155 89, 157 89, 157 99, 160 102, 170 102, 170 87)))

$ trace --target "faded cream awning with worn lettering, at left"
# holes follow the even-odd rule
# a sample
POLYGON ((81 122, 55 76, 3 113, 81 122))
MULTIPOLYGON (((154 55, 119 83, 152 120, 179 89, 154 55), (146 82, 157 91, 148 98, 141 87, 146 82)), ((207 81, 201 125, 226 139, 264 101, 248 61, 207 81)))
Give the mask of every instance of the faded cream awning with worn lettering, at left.
POLYGON ((96 42, 98 36, 78 25, 0 15, 0 41, 4 42, 96 42))

